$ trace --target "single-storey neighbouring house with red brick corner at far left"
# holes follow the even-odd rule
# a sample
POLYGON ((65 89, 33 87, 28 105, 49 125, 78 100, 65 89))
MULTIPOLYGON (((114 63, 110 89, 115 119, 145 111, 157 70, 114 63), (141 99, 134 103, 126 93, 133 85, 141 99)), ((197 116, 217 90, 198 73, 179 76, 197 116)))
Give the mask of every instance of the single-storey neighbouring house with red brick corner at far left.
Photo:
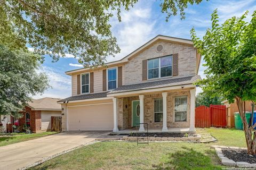
POLYGON ((26 124, 34 133, 51 131, 51 116, 61 116, 58 100, 50 97, 34 99, 20 112, 23 117, 17 120, 13 117, 12 123, 18 121, 21 128, 26 124))

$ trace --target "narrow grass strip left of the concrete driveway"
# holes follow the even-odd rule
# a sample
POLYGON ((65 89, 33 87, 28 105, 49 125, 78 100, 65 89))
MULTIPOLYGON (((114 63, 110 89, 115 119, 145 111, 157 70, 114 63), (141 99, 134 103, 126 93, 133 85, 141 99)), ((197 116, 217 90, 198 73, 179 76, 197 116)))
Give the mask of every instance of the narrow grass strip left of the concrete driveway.
POLYGON ((57 132, 42 132, 42 133, 32 133, 32 134, 21 134, 21 135, 8 135, 0 136, 0 147, 10 145, 13 143, 23 142, 31 139, 36 139, 39 137, 44 137, 50 134, 55 134, 57 132))

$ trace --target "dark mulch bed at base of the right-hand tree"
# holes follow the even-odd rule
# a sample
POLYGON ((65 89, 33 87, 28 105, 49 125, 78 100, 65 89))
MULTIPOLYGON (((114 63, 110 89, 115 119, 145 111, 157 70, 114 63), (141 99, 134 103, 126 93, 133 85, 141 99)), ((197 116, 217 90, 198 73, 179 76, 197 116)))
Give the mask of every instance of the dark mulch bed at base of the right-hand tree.
POLYGON ((256 163, 256 156, 247 155, 247 150, 245 149, 222 149, 222 154, 235 162, 256 163))

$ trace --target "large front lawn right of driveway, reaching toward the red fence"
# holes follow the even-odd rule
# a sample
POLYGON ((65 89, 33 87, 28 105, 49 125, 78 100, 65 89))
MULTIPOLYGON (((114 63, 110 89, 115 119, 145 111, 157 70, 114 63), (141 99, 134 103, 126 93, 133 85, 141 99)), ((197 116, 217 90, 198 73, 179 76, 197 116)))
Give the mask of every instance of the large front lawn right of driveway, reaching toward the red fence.
POLYGON ((244 132, 206 129, 215 143, 99 142, 30 169, 221 169, 211 145, 246 147, 244 132))

